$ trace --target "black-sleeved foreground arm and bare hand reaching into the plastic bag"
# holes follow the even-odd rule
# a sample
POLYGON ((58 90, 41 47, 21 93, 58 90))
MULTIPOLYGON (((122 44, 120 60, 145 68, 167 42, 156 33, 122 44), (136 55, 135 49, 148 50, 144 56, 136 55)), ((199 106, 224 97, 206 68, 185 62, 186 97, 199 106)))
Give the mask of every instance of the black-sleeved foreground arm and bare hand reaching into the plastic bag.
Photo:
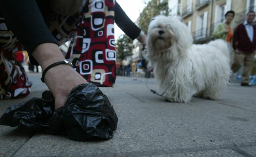
MULTIPOLYGON (((27 49, 32 63, 39 63, 45 70, 49 65, 65 59, 35 0, 0 0, 0 9, 7 27, 27 49)), ((64 106, 73 87, 87 83, 68 65, 50 68, 44 79, 55 98, 55 108, 64 106)))

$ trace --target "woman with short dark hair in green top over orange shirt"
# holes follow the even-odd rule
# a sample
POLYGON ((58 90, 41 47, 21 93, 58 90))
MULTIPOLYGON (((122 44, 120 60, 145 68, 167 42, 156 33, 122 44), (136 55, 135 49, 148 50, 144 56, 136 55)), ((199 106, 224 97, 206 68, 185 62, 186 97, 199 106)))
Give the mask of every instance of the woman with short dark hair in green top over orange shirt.
POLYGON ((231 21, 233 20, 235 16, 234 11, 228 11, 225 14, 226 21, 223 23, 219 23, 215 30, 213 31, 213 37, 223 39, 227 42, 229 47, 229 58, 231 58, 231 52, 232 52, 232 37, 233 37, 233 28, 230 26, 231 21))

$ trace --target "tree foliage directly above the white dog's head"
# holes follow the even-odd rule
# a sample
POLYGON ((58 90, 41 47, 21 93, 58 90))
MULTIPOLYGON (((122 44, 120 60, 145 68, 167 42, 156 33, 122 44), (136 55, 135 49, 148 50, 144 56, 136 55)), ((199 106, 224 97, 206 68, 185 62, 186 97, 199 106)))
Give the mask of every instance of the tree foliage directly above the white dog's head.
POLYGON ((145 33, 147 33, 151 18, 158 15, 169 15, 168 0, 149 1, 147 6, 143 9, 142 13, 140 13, 138 19, 139 28, 142 29, 145 33))

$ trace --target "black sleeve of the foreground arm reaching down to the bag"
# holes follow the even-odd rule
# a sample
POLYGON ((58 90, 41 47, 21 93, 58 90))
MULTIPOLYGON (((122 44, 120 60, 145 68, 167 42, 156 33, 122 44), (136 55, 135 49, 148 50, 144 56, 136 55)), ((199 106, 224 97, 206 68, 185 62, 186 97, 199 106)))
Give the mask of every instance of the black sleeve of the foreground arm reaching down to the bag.
POLYGON ((27 50, 30 62, 38 65, 32 52, 41 43, 55 43, 57 40, 49 31, 35 0, 0 0, 0 10, 7 27, 27 50))

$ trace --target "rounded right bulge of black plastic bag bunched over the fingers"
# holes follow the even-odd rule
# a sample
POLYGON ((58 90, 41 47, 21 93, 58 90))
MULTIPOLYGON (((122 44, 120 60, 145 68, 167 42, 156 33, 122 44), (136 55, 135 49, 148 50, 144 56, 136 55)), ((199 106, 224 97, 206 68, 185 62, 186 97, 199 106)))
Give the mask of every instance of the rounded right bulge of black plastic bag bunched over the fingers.
POLYGON ((117 115, 110 101, 95 85, 79 85, 71 92, 63 111, 69 138, 84 141, 90 137, 110 139, 117 129, 117 115), (86 104, 86 105, 85 105, 86 104))

